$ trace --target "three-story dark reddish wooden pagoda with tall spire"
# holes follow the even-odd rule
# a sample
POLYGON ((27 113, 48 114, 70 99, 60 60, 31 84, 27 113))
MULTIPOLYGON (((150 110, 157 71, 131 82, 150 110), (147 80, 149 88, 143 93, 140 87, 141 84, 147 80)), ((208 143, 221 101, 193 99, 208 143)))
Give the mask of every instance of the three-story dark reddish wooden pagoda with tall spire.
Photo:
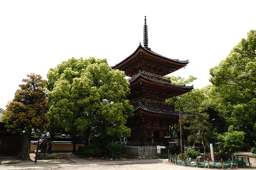
POLYGON ((185 67, 189 62, 174 60, 148 48, 145 16, 144 47, 139 47, 129 57, 113 66, 130 77, 128 100, 134 106, 134 116, 127 122, 131 129, 128 141, 164 142, 170 125, 179 123, 179 112, 165 99, 185 94, 193 86, 174 85, 165 75, 185 67))

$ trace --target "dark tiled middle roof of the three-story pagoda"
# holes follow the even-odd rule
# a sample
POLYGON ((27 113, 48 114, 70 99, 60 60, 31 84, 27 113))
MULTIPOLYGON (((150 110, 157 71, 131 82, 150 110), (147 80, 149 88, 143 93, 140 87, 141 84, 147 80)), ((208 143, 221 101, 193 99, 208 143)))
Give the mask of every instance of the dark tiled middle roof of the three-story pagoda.
POLYGON ((154 83, 158 83, 158 84, 162 84, 162 85, 167 85, 167 86, 171 86, 171 87, 175 87, 175 88, 179 88, 179 89, 186 89, 186 90, 192 90, 194 87, 194 85, 192 86, 186 86, 185 84, 184 85, 175 85, 175 84, 171 84, 171 83, 168 83, 168 82, 164 82, 164 81, 160 81, 160 80, 157 80, 157 79, 152 79, 152 78, 149 78, 147 77, 147 75, 144 75, 144 74, 137 74, 135 76, 132 77, 132 79, 128 79, 129 83, 132 84, 132 82, 135 82, 136 80, 138 80, 139 78, 143 78, 145 80, 148 80, 148 81, 151 81, 151 82, 154 82, 154 83))

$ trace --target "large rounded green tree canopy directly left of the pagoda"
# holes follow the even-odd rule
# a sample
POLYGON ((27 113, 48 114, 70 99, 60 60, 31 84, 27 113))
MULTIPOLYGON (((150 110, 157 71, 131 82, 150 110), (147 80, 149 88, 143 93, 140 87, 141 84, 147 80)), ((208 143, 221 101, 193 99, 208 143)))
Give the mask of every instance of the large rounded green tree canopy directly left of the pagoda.
POLYGON ((129 82, 123 71, 112 70, 105 59, 75 59, 62 62, 47 74, 50 112, 72 135, 105 140, 129 136, 125 126, 133 115, 126 97, 129 82))

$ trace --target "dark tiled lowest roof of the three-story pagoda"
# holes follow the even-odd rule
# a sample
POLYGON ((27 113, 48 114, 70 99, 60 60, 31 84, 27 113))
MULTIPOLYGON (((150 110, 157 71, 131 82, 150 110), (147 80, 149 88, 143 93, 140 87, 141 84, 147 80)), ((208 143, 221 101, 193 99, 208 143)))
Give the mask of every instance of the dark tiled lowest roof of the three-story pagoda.
MULTIPOLYGON (((157 115, 166 115, 166 116, 179 116, 180 115, 179 111, 158 108, 158 107, 145 106, 145 105, 140 105, 140 106, 134 108, 134 112, 139 111, 139 110, 157 114, 157 115)), ((181 116, 185 116, 185 112, 181 112, 181 116)))

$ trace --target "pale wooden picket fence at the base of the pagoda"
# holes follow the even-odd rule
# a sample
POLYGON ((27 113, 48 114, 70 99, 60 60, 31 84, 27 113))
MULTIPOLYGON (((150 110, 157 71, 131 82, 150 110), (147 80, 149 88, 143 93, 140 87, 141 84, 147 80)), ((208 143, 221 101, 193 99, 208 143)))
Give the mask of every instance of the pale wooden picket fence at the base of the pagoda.
POLYGON ((136 146, 123 146, 123 151, 128 155, 156 155, 156 146, 151 147, 136 147, 136 146))

